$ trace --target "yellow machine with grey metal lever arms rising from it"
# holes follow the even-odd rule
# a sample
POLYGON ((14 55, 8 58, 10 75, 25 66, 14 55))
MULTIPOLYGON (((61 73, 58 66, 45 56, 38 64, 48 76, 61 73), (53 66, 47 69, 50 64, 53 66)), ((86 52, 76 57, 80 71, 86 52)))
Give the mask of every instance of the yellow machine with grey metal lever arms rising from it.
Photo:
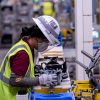
POLYGON ((86 66, 77 60, 75 60, 75 62, 85 69, 89 80, 77 80, 73 82, 73 92, 76 100, 100 100, 99 79, 95 78, 92 70, 100 62, 100 49, 98 49, 93 56, 86 51, 82 51, 82 53, 91 59, 89 66, 86 66))

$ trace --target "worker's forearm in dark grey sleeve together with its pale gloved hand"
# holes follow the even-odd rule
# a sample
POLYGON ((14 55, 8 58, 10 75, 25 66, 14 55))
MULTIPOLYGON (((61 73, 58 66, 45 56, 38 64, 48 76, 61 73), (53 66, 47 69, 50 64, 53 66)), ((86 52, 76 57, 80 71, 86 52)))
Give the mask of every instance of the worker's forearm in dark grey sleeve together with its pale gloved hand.
POLYGON ((39 77, 25 78, 12 74, 10 77, 10 85, 16 87, 32 87, 37 85, 57 84, 57 75, 42 74, 39 77))

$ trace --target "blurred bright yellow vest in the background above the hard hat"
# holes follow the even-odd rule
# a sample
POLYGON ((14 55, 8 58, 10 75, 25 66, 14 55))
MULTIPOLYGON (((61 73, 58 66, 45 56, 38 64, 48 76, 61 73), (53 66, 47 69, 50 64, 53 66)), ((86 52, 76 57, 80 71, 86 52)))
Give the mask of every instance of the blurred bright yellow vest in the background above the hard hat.
POLYGON ((53 16, 53 3, 52 2, 44 2, 43 3, 43 14, 53 16))

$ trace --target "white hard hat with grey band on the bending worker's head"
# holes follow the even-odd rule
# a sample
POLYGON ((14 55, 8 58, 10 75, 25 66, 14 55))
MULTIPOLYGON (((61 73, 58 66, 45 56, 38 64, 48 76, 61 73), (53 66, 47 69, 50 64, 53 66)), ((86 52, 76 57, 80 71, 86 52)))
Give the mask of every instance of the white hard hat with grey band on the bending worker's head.
POLYGON ((58 22, 51 16, 43 15, 33 18, 34 22, 40 28, 44 36, 48 39, 51 45, 59 45, 58 36, 60 27, 58 22))

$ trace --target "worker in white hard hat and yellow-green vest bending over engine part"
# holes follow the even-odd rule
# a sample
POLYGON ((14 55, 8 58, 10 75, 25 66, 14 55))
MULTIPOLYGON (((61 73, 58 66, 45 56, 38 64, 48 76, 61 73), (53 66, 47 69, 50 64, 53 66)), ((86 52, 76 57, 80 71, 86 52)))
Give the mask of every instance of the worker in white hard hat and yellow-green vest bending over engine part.
POLYGON ((0 100, 15 100, 21 91, 57 82, 54 74, 34 76, 33 50, 44 52, 49 45, 59 45, 59 34, 58 22, 45 15, 33 18, 31 27, 22 28, 21 39, 10 48, 0 67, 0 100))

